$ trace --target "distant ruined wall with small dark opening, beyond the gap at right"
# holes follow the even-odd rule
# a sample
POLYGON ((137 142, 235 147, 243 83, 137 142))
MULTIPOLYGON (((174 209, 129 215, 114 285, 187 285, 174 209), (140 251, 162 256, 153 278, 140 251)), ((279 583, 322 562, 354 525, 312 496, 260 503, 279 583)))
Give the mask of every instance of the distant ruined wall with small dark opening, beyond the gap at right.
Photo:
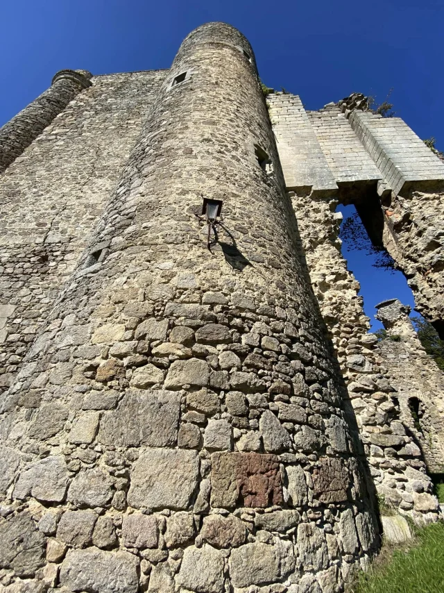
POLYGON ((443 474, 443 371, 418 340, 409 318, 409 307, 392 299, 379 303, 377 310, 377 318, 387 332, 387 337, 377 344, 377 358, 387 369, 396 389, 402 423, 420 447, 427 471, 443 474))

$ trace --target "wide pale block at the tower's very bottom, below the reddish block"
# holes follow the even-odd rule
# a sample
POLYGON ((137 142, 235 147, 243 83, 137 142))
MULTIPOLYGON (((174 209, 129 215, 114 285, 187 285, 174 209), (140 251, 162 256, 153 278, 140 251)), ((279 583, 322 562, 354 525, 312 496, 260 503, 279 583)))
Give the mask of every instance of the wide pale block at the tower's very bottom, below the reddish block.
POLYGON ((231 553, 230 577, 234 587, 273 583, 294 569, 295 562, 291 542, 282 541, 275 546, 246 544, 231 553))

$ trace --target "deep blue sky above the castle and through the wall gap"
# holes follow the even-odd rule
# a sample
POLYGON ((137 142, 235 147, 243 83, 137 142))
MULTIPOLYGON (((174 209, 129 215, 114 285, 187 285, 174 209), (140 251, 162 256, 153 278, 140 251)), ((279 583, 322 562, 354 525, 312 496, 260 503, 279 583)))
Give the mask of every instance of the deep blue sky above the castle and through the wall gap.
MULTIPOLYGON (((248 37, 264 83, 300 94, 307 109, 351 92, 381 102, 393 87, 397 115, 444 149, 443 0, 5 0, 1 12, 0 125, 60 69, 166 68, 189 31, 221 20, 248 37)), ((398 296, 385 294, 385 275, 381 280, 367 270, 361 278, 361 253, 351 254, 350 267, 371 303, 368 315, 375 302, 398 296)), ((398 288, 407 301, 401 279, 393 291, 398 288)))

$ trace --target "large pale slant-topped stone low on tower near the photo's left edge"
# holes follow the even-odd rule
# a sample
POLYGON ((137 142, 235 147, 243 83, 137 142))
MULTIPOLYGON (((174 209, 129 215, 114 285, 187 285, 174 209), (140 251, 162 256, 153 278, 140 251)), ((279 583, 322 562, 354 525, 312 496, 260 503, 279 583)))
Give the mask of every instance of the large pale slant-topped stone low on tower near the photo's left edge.
POLYGON ((46 457, 22 470, 14 488, 14 496, 34 496, 38 501, 60 503, 68 487, 68 470, 62 456, 46 457))

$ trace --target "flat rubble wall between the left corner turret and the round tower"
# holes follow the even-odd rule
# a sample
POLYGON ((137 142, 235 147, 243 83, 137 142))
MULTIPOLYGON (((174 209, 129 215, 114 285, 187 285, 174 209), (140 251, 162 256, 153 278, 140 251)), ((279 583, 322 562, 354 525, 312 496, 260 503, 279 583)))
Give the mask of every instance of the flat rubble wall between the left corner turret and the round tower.
POLYGON ((0 391, 88 244, 165 74, 95 76, 0 177, 0 391))

